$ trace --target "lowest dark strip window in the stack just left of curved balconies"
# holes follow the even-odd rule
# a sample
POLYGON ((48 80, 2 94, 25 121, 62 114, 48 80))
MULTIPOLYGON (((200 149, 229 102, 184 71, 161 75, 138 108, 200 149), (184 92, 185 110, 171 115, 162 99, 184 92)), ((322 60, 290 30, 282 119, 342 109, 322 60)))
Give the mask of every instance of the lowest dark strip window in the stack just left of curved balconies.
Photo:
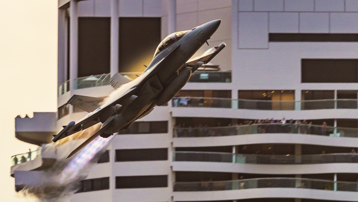
POLYGON ((116 189, 168 187, 168 175, 116 177, 116 189))

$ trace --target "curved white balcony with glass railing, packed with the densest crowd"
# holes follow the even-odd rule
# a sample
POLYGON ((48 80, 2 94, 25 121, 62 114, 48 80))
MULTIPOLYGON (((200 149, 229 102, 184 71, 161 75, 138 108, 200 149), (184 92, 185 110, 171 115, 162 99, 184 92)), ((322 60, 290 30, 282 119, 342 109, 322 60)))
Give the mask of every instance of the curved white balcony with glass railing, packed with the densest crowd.
POLYGON ((174 147, 268 143, 345 147, 357 147, 358 145, 358 129, 326 126, 322 130, 321 126, 308 124, 252 124, 205 128, 174 128, 173 137, 174 147))

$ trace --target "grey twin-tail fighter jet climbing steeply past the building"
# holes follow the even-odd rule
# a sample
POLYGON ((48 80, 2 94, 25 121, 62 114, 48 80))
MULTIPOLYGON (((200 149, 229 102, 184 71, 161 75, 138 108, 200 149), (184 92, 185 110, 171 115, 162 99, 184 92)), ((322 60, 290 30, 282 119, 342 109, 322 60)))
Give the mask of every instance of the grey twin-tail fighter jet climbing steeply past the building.
MULTIPOLYGON (((89 128, 99 122, 101 128, 74 150, 71 155, 86 146, 97 136, 108 138, 120 130, 127 129, 132 122, 149 114, 155 106, 169 102, 188 82, 190 75, 200 66, 208 63, 225 46, 221 43, 205 52, 202 56, 190 59, 204 43, 216 32, 221 20, 213 20, 192 30, 176 32, 166 37, 156 49, 153 60, 144 72, 130 82, 129 79, 116 73, 110 80, 113 88, 126 87, 121 95, 106 100, 102 98, 73 95, 68 104, 89 112, 81 120, 71 121, 63 126, 52 141, 56 142, 78 131, 89 128)), ((209 45, 209 44, 208 44, 209 45)), ((121 89, 123 90, 123 89, 121 89)))

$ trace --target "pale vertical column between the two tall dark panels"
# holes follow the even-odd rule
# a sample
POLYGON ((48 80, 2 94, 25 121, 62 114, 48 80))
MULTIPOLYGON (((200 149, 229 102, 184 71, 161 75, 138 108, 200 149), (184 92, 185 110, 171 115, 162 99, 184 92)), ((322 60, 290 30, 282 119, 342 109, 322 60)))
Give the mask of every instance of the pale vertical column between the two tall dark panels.
POLYGON ((118 0, 111 1, 111 77, 118 72, 118 0))

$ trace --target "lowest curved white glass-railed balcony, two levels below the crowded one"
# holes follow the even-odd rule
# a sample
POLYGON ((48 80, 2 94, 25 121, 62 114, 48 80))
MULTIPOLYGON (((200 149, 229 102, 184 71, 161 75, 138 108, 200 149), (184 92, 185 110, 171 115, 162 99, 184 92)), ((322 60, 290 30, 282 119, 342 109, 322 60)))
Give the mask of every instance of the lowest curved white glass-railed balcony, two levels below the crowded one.
POLYGON ((247 198, 310 198, 356 201, 358 197, 357 187, 357 182, 308 178, 255 178, 215 182, 174 182, 173 195, 175 201, 247 198))

